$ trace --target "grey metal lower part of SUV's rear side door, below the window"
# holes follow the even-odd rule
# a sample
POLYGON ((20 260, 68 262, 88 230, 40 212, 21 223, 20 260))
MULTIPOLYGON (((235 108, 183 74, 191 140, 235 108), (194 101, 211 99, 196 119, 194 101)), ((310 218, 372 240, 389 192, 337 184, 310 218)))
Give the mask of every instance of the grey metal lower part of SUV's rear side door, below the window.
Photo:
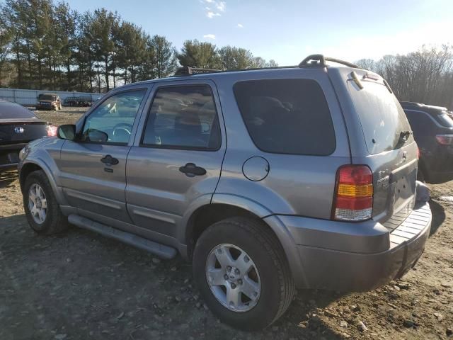
POLYGON ((134 224, 176 237, 176 226, 190 202, 214 193, 223 149, 200 152, 132 147, 127 157, 127 209, 134 224), (179 168, 194 163, 205 176, 188 177, 179 168))

